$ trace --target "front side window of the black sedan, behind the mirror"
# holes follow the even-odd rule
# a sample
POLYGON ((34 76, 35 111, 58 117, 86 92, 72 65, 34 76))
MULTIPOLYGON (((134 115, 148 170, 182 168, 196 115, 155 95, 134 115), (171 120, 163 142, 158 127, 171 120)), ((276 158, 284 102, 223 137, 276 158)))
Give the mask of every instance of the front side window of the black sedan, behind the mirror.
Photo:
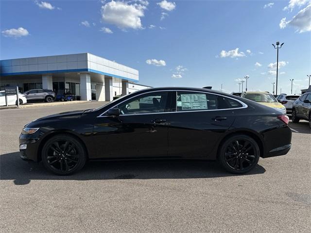
POLYGON ((126 100, 118 105, 121 115, 163 113, 168 92, 152 92, 126 100))

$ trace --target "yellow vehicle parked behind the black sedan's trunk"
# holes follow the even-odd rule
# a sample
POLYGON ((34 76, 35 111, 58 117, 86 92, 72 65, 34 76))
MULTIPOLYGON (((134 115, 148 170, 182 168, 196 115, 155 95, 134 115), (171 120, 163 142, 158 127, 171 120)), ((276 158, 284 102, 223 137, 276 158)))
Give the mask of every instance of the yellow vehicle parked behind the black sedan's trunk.
POLYGON ((274 108, 282 113, 286 113, 284 105, 277 102, 276 98, 269 92, 244 92, 241 97, 274 108))

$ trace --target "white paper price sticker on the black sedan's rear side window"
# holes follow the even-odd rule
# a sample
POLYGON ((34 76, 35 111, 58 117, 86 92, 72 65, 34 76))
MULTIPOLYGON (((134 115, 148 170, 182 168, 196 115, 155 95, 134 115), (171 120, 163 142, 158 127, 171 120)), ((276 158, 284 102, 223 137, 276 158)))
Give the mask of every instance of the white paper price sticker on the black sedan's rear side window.
POLYGON ((207 109, 206 94, 181 94, 181 109, 207 109))

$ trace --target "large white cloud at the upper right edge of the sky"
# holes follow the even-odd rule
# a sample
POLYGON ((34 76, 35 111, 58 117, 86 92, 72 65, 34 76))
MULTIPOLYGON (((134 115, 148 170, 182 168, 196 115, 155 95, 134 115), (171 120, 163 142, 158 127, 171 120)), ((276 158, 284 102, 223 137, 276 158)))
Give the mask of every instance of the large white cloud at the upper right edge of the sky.
POLYGON ((280 21, 280 28, 283 29, 287 25, 296 28, 296 32, 305 33, 311 31, 311 4, 302 9, 291 20, 286 21, 286 17, 280 21))

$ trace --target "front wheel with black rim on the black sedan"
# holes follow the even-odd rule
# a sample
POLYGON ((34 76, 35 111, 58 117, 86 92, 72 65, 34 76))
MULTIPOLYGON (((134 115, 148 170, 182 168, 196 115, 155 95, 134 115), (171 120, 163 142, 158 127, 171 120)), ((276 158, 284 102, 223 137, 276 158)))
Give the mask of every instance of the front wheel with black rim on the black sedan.
POLYGON ((86 150, 81 142, 68 134, 50 138, 42 148, 42 162, 57 175, 71 175, 86 164, 86 150))

